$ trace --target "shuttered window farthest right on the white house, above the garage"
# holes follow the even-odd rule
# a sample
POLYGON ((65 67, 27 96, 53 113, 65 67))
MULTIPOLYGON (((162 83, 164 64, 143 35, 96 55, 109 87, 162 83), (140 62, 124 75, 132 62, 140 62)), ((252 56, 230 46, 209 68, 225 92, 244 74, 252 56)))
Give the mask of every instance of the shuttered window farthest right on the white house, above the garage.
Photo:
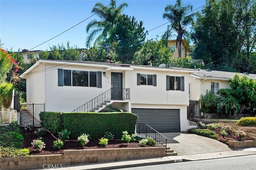
POLYGON ((184 91, 184 76, 166 76, 166 90, 184 91))

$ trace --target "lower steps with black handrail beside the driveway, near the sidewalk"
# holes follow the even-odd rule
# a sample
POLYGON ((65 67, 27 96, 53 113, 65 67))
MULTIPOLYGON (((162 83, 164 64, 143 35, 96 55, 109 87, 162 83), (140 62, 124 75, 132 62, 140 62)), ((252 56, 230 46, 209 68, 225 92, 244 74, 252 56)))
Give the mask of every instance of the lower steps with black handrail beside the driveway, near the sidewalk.
POLYGON ((167 138, 147 124, 137 123, 136 133, 144 138, 151 138, 156 141, 156 147, 165 147, 166 156, 177 156, 178 153, 167 147, 167 138))

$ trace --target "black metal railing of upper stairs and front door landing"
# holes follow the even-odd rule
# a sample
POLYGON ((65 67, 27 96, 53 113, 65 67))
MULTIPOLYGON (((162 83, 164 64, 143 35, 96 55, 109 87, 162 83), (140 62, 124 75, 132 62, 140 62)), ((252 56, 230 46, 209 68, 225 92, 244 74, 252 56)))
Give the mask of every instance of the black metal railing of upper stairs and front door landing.
MULTIPOLYGON (((106 92, 100 94, 96 98, 90 100, 86 104, 83 104, 82 106, 74 109, 72 112, 92 112, 94 108, 99 107, 102 104, 106 104, 108 100, 112 100, 114 96, 113 90, 116 90, 118 88, 110 88, 106 92)), ((117 99, 117 98, 116 98, 117 99)), ((122 89, 122 98, 120 100, 130 100, 130 89, 129 88, 123 88, 122 89)))

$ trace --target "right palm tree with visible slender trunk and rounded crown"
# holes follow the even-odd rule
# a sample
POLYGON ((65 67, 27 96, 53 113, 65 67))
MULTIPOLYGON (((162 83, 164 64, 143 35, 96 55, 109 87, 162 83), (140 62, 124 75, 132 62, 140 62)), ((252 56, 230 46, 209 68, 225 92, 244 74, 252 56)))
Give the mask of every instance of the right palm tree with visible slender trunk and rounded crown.
POLYGON ((175 5, 167 5, 164 8, 165 13, 163 14, 163 19, 167 19, 170 21, 171 30, 167 30, 163 37, 165 37, 167 40, 170 37, 170 31, 175 31, 177 35, 176 42, 179 43, 179 57, 181 57, 181 43, 182 43, 182 37, 184 35, 188 34, 188 31, 186 31, 186 28, 188 25, 190 25, 193 21, 193 17, 195 13, 191 13, 188 15, 188 13, 192 12, 193 6, 190 4, 186 4, 182 6, 181 0, 176 0, 175 5))

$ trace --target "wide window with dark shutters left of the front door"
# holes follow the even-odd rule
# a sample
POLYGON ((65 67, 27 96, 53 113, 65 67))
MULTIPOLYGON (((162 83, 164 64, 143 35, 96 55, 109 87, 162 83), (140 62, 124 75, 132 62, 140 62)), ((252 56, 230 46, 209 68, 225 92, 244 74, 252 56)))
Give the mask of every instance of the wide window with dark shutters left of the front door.
POLYGON ((102 88, 102 72, 58 69, 58 86, 102 88))

